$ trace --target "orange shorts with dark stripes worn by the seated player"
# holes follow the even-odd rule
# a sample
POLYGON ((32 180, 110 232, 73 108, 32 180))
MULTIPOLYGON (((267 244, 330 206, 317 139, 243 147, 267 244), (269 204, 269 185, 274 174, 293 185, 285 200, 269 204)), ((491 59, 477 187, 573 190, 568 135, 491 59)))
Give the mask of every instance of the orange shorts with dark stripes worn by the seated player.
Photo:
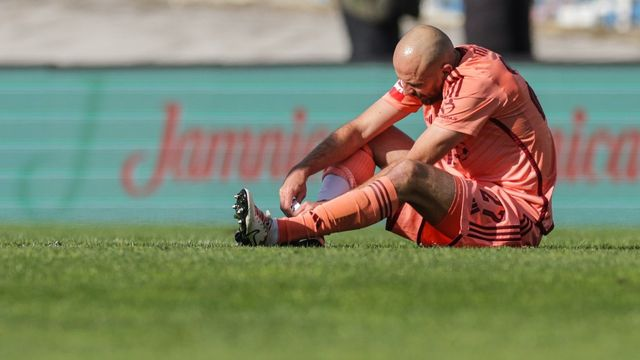
POLYGON ((422 246, 537 246, 540 228, 511 195, 495 184, 456 179, 456 196, 433 226, 405 203, 387 219, 387 230, 422 246))

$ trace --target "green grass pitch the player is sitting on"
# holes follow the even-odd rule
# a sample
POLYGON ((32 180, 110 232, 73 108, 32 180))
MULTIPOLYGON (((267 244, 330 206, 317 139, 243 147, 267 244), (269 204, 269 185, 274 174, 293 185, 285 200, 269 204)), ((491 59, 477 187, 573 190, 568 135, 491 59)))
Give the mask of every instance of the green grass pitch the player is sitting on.
POLYGON ((230 228, 0 228, 0 359, 635 359, 640 230, 537 249, 324 249, 230 228))

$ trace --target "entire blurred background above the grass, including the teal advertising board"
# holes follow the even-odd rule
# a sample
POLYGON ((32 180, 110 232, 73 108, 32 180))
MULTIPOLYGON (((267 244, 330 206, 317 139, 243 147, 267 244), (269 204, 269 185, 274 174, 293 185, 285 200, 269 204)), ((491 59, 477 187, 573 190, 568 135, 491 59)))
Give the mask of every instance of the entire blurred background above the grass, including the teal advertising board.
POLYGON ((558 225, 640 224, 640 0, 2 0, 0 221, 230 224, 242 186, 277 209, 418 23, 536 90, 558 225))

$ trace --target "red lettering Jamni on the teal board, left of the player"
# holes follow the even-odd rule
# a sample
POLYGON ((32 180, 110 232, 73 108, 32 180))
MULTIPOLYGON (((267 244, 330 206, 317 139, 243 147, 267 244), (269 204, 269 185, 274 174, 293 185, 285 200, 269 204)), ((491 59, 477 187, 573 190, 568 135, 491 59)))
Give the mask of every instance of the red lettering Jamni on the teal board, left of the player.
POLYGON ((132 196, 148 196, 162 183, 174 181, 205 182, 259 181, 263 176, 282 180, 289 169, 311 148, 324 139, 328 131, 316 129, 305 134, 306 111, 296 109, 293 131, 268 128, 206 131, 190 128, 179 133, 180 106, 168 104, 166 120, 156 161, 147 180, 136 184, 135 173, 147 161, 144 151, 136 151, 125 160, 121 171, 122 187, 132 196))

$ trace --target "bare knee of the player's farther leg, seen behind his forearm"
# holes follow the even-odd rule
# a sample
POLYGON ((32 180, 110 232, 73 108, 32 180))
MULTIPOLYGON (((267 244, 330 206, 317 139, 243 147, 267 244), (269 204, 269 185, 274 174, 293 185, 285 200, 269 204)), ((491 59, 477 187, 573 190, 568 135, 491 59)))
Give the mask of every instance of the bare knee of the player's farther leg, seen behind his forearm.
POLYGON ((369 142, 373 159, 380 168, 385 168, 405 158, 413 139, 395 126, 391 126, 369 142))

